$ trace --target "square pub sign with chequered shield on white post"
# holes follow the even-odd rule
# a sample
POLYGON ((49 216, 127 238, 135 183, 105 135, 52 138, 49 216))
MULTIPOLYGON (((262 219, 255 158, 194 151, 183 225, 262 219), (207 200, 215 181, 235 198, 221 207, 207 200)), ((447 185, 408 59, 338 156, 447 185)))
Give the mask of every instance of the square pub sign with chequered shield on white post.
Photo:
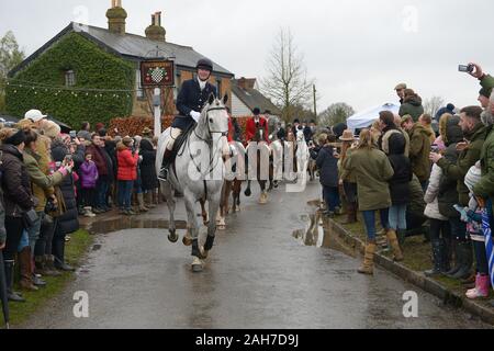
POLYGON ((171 60, 145 60, 141 63, 143 88, 175 86, 175 63, 171 60))

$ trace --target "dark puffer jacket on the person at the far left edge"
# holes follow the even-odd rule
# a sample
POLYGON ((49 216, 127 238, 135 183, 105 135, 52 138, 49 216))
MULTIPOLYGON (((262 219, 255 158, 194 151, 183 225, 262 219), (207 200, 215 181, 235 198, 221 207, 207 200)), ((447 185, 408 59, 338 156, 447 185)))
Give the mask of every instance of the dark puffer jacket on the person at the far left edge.
POLYGON ((34 207, 30 174, 21 151, 13 145, 2 145, 2 189, 7 217, 22 217, 34 207))

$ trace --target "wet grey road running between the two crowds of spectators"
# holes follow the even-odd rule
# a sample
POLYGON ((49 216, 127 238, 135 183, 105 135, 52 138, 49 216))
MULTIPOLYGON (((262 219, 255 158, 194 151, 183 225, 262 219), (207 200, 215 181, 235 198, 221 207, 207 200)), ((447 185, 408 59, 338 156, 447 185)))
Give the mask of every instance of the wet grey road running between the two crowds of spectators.
MULTIPOLYGON (((26 328, 484 328, 461 310, 377 269, 357 273, 360 259, 305 247, 292 236, 317 199, 270 195, 266 206, 243 197, 242 212, 220 233, 203 273, 190 271, 190 248, 171 245, 164 229, 99 236, 77 280, 26 328), (89 318, 75 318, 75 292, 89 295, 89 318), (418 293, 418 318, 403 317, 403 293, 418 293)), ((184 219, 183 204, 178 218, 184 219)), ((166 218, 156 210, 137 226, 166 218)), ((125 222, 119 222, 120 227, 125 222)), ((115 226, 119 228, 119 225, 115 226)), ((205 228, 202 229, 204 231, 205 228)), ((182 235, 181 230, 180 235, 182 235)))

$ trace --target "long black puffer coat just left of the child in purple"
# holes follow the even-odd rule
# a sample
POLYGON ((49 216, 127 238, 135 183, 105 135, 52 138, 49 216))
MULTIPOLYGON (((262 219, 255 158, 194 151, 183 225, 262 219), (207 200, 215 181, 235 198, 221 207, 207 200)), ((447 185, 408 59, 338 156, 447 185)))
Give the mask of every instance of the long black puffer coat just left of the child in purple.
MULTIPOLYGON (((63 162, 66 155, 69 154, 68 148, 59 140, 52 144, 52 157, 55 162, 63 162)), ((77 211, 76 191, 74 177, 66 177, 59 185, 64 194, 64 201, 67 212, 57 218, 56 235, 64 236, 79 230, 79 213, 77 211)))

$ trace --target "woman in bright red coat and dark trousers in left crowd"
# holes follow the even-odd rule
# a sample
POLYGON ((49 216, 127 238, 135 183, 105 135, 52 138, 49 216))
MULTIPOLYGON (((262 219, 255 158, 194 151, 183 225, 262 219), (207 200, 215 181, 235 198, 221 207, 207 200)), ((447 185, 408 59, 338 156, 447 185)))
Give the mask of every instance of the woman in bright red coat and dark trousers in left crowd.
POLYGON ((137 165, 139 152, 133 151, 134 140, 131 137, 124 137, 117 146, 117 181, 119 181, 119 206, 120 213, 132 216, 136 213, 132 211, 132 190, 137 180, 137 165))

